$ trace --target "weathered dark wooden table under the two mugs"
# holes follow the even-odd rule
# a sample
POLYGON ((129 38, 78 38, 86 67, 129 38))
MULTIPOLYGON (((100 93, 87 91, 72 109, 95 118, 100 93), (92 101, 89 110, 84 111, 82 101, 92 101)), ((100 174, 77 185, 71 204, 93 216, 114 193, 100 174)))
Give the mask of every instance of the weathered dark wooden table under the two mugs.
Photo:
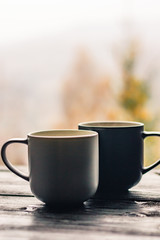
POLYGON ((1 167, 0 239, 160 239, 160 170, 144 175, 124 195, 55 211, 33 197, 26 181, 1 167))

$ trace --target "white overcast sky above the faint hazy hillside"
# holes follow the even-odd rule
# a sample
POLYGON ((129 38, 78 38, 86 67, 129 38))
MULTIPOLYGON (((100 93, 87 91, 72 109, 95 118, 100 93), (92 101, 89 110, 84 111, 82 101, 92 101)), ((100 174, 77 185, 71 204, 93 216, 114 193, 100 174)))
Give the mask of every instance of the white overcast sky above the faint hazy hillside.
POLYGON ((0 45, 74 26, 160 22, 159 0, 0 0, 0 45))

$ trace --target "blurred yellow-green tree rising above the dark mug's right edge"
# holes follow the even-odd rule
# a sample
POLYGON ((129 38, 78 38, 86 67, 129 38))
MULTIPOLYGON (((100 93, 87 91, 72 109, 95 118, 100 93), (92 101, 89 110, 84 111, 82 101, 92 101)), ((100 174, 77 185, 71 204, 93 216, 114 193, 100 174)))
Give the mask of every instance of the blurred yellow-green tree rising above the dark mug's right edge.
POLYGON ((150 99, 150 88, 146 79, 141 79, 135 74, 137 63, 137 45, 131 44, 121 59, 123 88, 119 93, 121 106, 128 112, 130 118, 142 121, 150 126, 153 123, 147 103, 150 99))

